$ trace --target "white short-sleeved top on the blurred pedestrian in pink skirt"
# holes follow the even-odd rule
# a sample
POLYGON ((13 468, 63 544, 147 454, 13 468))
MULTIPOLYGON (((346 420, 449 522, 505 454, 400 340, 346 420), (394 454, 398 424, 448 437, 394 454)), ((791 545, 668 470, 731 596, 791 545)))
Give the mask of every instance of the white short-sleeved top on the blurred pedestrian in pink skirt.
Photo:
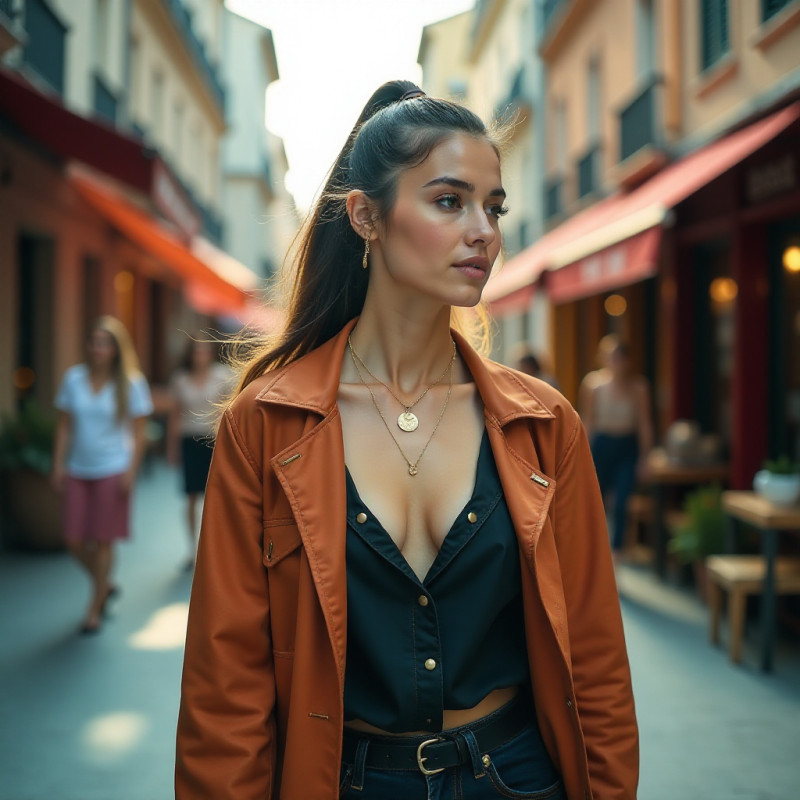
POLYGON ((131 421, 153 413, 147 381, 138 375, 130 381, 128 419, 117 420, 114 382, 107 381, 95 393, 86 364, 76 364, 64 373, 55 405, 72 418, 66 469, 75 478, 107 478, 125 472, 133 458, 131 421))

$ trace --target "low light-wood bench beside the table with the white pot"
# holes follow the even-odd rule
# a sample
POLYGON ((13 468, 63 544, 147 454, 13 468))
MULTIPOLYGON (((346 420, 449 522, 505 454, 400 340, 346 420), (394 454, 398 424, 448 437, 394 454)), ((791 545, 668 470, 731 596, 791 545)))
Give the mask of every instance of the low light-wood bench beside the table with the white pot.
MULTIPOLYGON (((747 595, 760 594, 766 574, 761 556, 727 555, 706 559, 708 605, 711 613, 711 642, 719 642, 722 593, 728 593, 728 657, 742 658, 747 595)), ((800 558, 781 557, 775 561, 775 594, 800 594, 800 558)))

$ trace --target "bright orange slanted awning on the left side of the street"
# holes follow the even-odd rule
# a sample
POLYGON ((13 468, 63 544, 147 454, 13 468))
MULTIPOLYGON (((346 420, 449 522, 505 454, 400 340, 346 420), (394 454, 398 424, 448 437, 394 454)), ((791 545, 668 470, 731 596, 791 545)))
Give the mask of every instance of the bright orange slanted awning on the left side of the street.
POLYGON ((244 308, 247 293, 222 278, 194 255, 158 219, 88 175, 73 172, 70 180, 81 197, 114 228, 171 269, 187 284, 190 302, 193 294, 202 297, 199 311, 234 314, 244 308))

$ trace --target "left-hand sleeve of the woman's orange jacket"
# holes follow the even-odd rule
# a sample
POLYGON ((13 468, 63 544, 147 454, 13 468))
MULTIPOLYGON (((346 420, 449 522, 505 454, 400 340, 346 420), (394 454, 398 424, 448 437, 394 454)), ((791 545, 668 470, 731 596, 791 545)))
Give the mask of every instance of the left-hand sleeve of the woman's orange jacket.
POLYGON ((211 464, 183 664, 176 800, 269 800, 275 681, 262 478, 230 410, 211 464))

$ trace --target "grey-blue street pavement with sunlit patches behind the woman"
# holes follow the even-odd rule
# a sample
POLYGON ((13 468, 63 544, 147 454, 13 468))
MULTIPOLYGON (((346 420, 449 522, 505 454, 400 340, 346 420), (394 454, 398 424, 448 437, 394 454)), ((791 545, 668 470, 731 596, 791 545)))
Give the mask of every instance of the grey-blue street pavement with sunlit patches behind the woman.
MULTIPOLYGON (((138 488, 119 548, 122 596, 77 635, 85 579, 66 556, 0 553, 0 800, 169 800, 191 578, 174 472, 138 488)), ((800 648, 776 671, 707 642, 691 595, 623 568, 622 607, 642 736, 640 800, 796 800, 800 648)), ((313 800, 313 798, 309 798, 313 800)))

